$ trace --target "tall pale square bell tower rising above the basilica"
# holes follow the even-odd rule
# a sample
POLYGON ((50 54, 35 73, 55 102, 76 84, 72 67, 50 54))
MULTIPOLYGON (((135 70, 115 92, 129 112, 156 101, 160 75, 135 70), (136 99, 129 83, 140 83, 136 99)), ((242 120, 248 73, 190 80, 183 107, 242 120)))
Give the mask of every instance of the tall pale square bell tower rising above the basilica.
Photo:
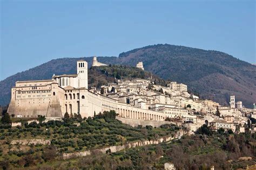
POLYGON ((84 60, 77 61, 78 87, 88 89, 87 62, 84 60))

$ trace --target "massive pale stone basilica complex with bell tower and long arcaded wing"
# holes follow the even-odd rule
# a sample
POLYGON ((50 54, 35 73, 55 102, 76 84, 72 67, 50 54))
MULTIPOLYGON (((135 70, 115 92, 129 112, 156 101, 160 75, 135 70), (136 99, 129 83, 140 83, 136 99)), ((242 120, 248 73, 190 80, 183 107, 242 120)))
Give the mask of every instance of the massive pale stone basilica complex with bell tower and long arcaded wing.
MULTIPOLYGON (((142 86, 145 82, 147 80, 136 80, 142 86)), ((116 110, 120 117, 126 118, 154 121, 165 119, 165 114, 161 112, 145 109, 145 106, 136 108, 127 102, 118 102, 88 90, 87 62, 83 60, 77 61, 77 74, 53 74, 51 80, 17 81, 15 87, 11 88, 8 108, 9 114, 15 117, 42 115, 56 118, 63 117, 66 112, 93 117, 94 112, 98 114, 109 110, 116 110)))

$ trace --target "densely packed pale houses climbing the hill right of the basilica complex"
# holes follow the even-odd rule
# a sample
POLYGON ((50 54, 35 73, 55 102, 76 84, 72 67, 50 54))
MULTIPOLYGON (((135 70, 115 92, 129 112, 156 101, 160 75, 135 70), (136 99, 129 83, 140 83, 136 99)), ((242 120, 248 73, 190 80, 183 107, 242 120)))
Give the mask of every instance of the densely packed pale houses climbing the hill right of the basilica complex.
MULTIPOLYGON (((142 69, 143 62, 136 67, 142 69)), ((164 87, 152 80, 118 80, 108 86, 92 87, 90 91, 134 108, 161 112, 165 121, 181 122, 190 133, 196 132, 203 124, 212 130, 223 128, 225 131, 245 132, 245 125, 251 124, 248 117, 256 118, 255 104, 254 109, 247 109, 241 101, 235 102, 235 96, 230 96, 230 105, 223 106, 188 93, 187 85, 177 82, 164 87)), ((130 115, 124 117, 132 118, 130 115)))

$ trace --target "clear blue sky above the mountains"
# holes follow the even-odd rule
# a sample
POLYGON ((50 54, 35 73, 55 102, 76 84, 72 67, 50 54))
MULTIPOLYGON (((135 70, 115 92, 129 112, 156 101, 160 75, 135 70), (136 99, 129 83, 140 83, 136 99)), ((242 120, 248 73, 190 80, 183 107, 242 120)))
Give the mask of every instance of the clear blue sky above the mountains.
POLYGON ((154 44, 256 63, 255 2, 0 0, 0 81, 52 59, 154 44))

